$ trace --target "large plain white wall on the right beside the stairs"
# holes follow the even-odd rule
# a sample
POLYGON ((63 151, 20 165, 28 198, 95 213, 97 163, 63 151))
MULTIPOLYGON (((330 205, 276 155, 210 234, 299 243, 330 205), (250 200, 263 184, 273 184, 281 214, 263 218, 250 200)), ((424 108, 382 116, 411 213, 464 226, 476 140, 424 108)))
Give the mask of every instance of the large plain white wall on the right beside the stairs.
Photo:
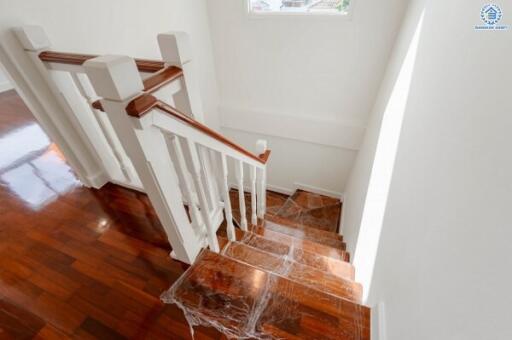
MULTIPOLYGON (((512 30, 475 31, 483 4, 412 1, 397 44, 402 53, 388 73, 395 79, 383 86, 383 93, 393 92, 386 84, 399 80, 397 65, 424 10, 410 88, 402 92, 404 119, 389 192, 366 198, 385 206, 365 289, 370 305, 385 303, 387 339, 512 338, 512 30)), ((499 5, 502 23, 512 25, 512 4, 499 5)), ((386 101, 381 104, 376 124, 386 111, 386 101)), ((374 142, 363 148, 379 150, 379 137, 367 138, 374 142)), ((362 162, 379 171, 371 157, 362 162)), ((365 185, 354 188, 366 191, 365 185)), ((348 191, 347 201, 353 193, 366 195, 357 190, 348 191)), ((366 249, 361 242, 357 247, 366 249)), ((356 257, 365 256, 358 251, 356 257)))

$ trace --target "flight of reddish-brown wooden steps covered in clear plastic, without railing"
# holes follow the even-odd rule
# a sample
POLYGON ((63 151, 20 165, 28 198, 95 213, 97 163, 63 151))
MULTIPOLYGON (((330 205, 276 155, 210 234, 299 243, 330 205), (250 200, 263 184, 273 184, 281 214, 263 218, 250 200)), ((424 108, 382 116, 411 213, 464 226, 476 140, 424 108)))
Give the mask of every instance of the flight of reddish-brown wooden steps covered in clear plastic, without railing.
MULTIPOLYGON (((214 327, 228 338, 370 339, 370 310, 336 233, 341 203, 299 190, 289 198, 269 192, 267 204, 265 218, 237 229, 236 241, 221 228, 221 252, 205 250, 162 299, 192 329, 214 327)), ((239 223, 236 205, 233 215, 239 223)))

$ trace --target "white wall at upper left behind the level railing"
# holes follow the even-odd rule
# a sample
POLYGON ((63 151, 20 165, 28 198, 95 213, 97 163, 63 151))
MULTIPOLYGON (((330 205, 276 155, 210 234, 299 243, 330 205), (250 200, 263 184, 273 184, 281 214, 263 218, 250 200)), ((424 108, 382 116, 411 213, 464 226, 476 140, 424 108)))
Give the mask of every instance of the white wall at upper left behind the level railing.
POLYGON ((54 49, 160 59, 156 35, 182 30, 192 37, 207 122, 218 128, 218 95, 206 0, 0 0, 0 34, 40 25, 54 49))

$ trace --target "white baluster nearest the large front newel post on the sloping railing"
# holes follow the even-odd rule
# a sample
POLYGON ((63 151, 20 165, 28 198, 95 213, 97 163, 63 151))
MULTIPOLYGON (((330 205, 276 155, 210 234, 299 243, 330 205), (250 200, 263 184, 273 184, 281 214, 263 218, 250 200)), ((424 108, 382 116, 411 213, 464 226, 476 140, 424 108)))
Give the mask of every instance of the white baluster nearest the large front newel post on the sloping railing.
POLYGON ((203 233, 203 221, 201 219, 201 214, 199 213, 199 209, 197 209, 196 199, 194 195, 194 190, 192 188, 192 183, 190 183, 190 178, 188 176, 187 165, 185 162, 185 157, 183 156, 183 151, 181 149, 180 139, 177 136, 167 136, 166 138, 167 145, 169 151, 173 152, 176 168, 176 173, 178 175, 178 179, 181 184, 181 188, 183 190, 183 196, 185 200, 188 202, 188 208, 190 211, 190 216, 192 218, 192 225, 194 229, 199 234, 203 233))

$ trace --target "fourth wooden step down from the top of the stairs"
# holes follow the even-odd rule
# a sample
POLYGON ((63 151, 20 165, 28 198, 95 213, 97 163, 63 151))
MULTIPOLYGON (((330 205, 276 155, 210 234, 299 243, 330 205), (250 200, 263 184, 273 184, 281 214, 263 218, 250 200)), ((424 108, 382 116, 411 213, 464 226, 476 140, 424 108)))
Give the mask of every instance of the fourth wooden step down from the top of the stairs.
POLYGON ((266 215, 263 227, 295 238, 306 239, 326 246, 345 250, 343 237, 333 232, 306 227, 279 216, 266 215))

